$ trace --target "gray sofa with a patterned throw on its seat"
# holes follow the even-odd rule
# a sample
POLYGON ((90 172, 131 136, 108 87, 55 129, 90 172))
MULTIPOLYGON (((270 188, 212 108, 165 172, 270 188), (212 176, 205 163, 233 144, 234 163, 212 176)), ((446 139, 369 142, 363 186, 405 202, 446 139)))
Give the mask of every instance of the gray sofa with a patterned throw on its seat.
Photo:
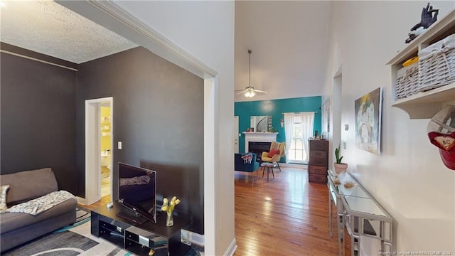
MULTIPOLYGON (((58 191, 57 180, 50 168, 0 175, 0 185, 8 184, 8 207, 58 191)), ((76 208, 77 201, 72 198, 38 215, 0 213, 1 252, 75 223, 76 208)))

